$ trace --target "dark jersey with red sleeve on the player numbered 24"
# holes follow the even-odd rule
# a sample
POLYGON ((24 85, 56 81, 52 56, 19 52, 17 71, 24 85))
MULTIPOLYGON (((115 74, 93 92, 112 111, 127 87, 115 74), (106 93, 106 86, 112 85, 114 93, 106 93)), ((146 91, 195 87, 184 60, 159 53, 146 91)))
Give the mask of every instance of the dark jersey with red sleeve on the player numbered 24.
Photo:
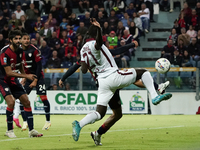
MULTIPOLYGON (((42 60, 41 52, 38 50, 34 45, 30 44, 27 50, 25 52, 25 58, 26 58, 26 73, 27 74, 36 74, 37 69, 37 62, 42 60)), ((42 76, 43 71, 41 71, 42 76)))

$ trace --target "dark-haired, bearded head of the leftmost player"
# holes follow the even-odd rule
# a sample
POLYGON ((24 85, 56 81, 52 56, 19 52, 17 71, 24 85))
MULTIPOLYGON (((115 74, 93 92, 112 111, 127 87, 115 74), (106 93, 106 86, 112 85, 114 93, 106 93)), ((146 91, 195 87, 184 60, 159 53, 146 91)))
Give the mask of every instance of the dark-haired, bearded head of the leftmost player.
POLYGON ((19 48, 21 38, 22 38, 22 33, 20 30, 11 30, 8 34, 9 41, 13 48, 17 50, 19 48))

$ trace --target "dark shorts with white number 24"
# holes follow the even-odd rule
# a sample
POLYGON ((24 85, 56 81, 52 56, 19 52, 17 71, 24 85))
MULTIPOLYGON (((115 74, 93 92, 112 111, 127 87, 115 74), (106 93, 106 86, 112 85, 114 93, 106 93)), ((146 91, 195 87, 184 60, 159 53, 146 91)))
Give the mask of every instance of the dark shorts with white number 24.
MULTIPOLYGON (((30 88, 29 85, 32 83, 31 80, 27 80, 26 84, 24 85, 24 88, 27 92, 27 94, 30 94, 33 88, 30 88)), ((45 87, 45 82, 44 78, 41 76, 37 82, 36 85, 36 93, 37 95, 46 95, 46 87, 45 87)))

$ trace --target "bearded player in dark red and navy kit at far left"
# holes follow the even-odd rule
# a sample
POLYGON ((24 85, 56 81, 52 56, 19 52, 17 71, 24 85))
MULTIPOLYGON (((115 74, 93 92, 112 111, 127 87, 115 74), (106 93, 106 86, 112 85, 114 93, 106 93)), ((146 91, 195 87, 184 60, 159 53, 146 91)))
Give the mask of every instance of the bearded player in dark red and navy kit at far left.
POLYGON ((30 101, 26 94, 26 91, 19 83, 17 78, 26 78, 28 80, 34 80, 37 78, 34 74, 26 74, 24 71, 25 54, 19 47, 21 40, 21 31, 12 30, 9 35, 10 45, 5 46, 1 50, 0 54, 0 92, 3 95, 6 103, 6 117, 7 117, 7 131, 6 136, 15 138, 13 132, 13 109, 15 99, 19 99, 24 105, 24 112, 26 114, 29 136, 30 137, 41 137, 43 134, 38 133, 33 128, 33 114, 30 106, 30 101), (21 74, 17 73, 18 71, 21 74))

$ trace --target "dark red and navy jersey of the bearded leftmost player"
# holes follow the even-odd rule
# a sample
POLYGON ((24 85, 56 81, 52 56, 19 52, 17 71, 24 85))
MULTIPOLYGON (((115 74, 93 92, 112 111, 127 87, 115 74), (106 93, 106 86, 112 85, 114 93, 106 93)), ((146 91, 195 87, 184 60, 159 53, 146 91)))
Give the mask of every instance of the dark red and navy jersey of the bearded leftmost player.
POLYGON ((6 83, 13 83, 15 77, 8 77, 4 67, 10 66, 13 72, 18 72, 20 64, 25 64, 25 53, 22 48, 18 48, 17 51, 13 51, 10 46, 5 46, 1 49, 0 53, 0 79, 6 83))

